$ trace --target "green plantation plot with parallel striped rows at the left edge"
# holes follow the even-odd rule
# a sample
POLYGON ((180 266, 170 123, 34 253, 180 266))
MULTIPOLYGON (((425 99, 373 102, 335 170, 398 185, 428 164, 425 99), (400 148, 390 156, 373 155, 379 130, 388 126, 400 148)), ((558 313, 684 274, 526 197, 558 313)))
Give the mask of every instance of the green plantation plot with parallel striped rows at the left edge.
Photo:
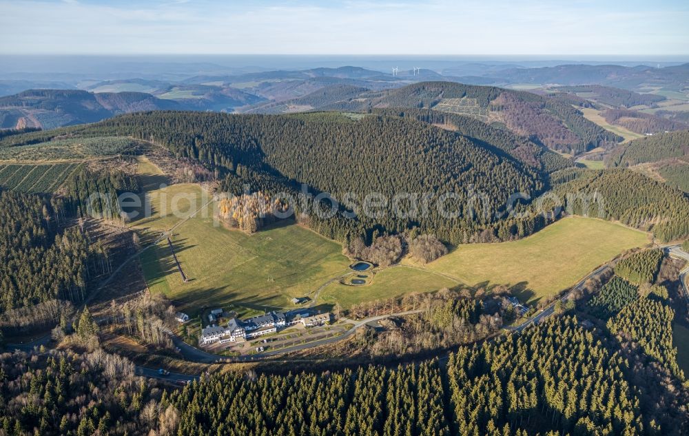
POLYGON ((0 187, 21 192, 50 193, 58 189, 77 167, 78 163, 0 164, 0 187))

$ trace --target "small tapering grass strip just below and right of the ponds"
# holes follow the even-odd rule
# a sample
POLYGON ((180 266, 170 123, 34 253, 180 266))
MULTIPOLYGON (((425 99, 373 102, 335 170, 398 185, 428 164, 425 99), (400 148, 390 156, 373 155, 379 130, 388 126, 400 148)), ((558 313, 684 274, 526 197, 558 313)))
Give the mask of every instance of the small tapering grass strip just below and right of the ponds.
POLYGON ((371 284, 348 286, 340 282, 329 284, 320 293, 318 302, 340 305, 347 309, 353 304, 373 300, 400 297, 411 292, 437 291, 443 287, 455 287, 457 281, 430 271, 409 267, 392 267, 376 273, 371 284))

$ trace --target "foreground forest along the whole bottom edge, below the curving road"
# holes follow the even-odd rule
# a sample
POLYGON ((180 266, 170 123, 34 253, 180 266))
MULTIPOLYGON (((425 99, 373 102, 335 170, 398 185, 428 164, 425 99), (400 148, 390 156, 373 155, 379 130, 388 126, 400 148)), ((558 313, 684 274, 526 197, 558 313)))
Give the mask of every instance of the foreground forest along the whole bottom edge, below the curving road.
POLYGON ((683 377, 668 342, 672 311, 653 295, 612 318, 610 335, 564 316, 443 362, 225 373, 184 388, 137 381, 132 364, 101 351, 4 354, 0 426, 12 435, 681 435, 686 394, 645 397, 628 362, 648 360, 646 377, 663 368, 683 377), (628 341, 641 347, 623 355, 628 341))

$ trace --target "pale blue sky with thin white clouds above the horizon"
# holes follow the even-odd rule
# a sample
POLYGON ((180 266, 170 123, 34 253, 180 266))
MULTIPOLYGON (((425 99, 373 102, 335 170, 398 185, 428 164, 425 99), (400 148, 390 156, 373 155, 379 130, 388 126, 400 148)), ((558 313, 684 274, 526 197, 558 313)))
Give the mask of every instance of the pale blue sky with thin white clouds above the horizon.
POLYGON ((689 54, 687 0, 0 0, 0 54, 689 54))

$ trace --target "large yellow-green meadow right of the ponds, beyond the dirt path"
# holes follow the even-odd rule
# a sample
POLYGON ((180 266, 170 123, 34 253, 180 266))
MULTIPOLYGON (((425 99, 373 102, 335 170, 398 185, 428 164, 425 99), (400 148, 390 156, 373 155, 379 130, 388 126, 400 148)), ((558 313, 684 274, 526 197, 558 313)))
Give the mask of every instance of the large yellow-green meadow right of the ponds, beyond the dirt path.
POLYGON ((522 301, 556 295, 621 251, 649 242, 646 233, 597 218, 563 218, 513 242, 460 245, 427 269, 470 286, 506 284, 522 301))

